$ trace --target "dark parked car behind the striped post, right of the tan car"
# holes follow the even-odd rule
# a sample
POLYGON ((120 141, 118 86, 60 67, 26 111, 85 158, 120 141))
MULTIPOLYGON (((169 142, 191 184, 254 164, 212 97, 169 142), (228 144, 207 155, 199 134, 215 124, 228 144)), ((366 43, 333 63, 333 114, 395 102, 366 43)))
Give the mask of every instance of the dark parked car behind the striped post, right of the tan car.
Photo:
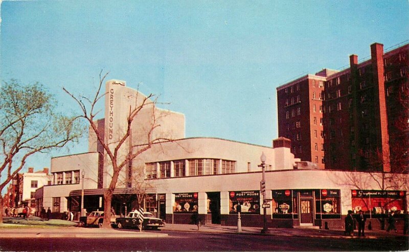
MULTIPOLYGON (((139 229, 140 225, 140 218, 139 218, 139 212, 134 211, 134 212, 129 212, 126 217, 121 217, 116 219, 116 224, 119 229, 122 228, 136 228, 139 229)), ((142 229, 158 229, 158 228, 163 228, 165 226, 165 221, 160 218, 156 218, 152 213, 150 212, 144 212, 144 221, 142 223, 142 229)))

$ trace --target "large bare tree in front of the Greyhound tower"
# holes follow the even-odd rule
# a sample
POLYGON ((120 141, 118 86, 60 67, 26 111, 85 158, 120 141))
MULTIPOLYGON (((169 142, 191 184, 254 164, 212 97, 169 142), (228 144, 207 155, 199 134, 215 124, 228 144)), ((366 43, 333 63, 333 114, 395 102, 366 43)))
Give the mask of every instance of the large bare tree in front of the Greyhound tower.
POLYGON ((135 102, 134 106, 132 105, 132 106, 129 106, 129 108, 122 108, 123 110, 128 111, 125 129, 118 130, 117 132, 118 140, 117 141, 114 141, 114 142, 105 141, 104 133, 98 130, 98 125, 95 121, 95 118, 99 112, 97 111, 97 103, 107 94, 106 92, 101 91, 102 84, 104 83, 107 75, 108 75, 108 72, 106 72, 105 74, 102 74, 102 71, 100 72, 99 85, 98 85, 97 91, 93 98, 87 98, 84 96, 76 97, 71 92, 67 91, 65 88, 64 88, 64 91, 67 94, 69 94, 81 108, 80 117, 83 117, 87 121, 87 123, 89 123, 90 129, 92 130, 92 132, 96 134, 97 141, 103 147, 104 152, 106 153, 106 157, 109 160, 110 164, 112 165, 112 174, 111 174, 112 177, 111 177, 108 188, 104 192, 104 213, 105 214, 104 214, 104 222, 102 225, 102 228, 110 229, 111 228, 110 209, 111 209, 112 195, 113 195, 113 190, 117 187, 117 183, 118 183, 118 179, 119 179, 121 170, 124 167, 129 166, 132 163, 132 160, 134 158, 138 157, 139 155, 144 153, 146 150, 151 148, 152 144, 161 142, 161 141, 172 141, 172 139, 154 136, 155 135, 154 130, 161 126, 160 123, 158 122, 161 115, 159 116, 155 115, 155 106, 157 104, 157 96, 153 94, 149 94, 147 96, 138 95, 137 101, 135 102), (83 100, 85 100, 85 102, 83 100), (132 138, 131 137, 131 133, 132 133, 131 125, 137 121, 138 115, 140 114, 141 110, 145 108, 152 109, 151 122, 149 123, 149 125, 145 125, 146 127, 148 127, 148 129, 146 130, 146 142, 143 143, 142 145, 141 144, 132 145, 131 144, 132 141, 130 141, 132 138), (124 149, 126 150, 125 152, 124 152, 124 149), (125 156, 124 156, 124 153, 126 153, 125 156))

